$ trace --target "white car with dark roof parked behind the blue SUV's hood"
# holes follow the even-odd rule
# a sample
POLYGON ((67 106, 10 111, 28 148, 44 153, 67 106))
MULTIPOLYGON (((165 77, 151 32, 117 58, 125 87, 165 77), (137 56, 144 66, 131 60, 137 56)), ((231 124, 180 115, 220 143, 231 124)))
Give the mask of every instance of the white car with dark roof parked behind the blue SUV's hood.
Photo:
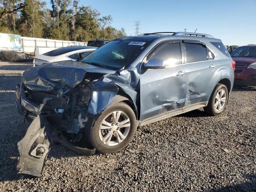
POLYGON ((76 61, 84 58, 98 47, 90 46, 70 46, 54 49, 52 51, 46 52, 44 54, 33 57, 33 66, 39 66, 48 62, 57 62, 57 61, 67 61, 72 60, 76 61))

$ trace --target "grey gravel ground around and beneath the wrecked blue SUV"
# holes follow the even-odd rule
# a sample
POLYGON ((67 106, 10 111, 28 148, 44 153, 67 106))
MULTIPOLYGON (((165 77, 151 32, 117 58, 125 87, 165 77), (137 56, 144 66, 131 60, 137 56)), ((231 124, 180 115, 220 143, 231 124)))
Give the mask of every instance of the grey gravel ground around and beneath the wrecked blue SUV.
POLYGON ((256 191, 256 88, 234 89, 226 110, 195 110, 142 126, 115 154, 82 156, 54 145, 42 177, 17 174, 25 135, 14 105, 20 71, 0 62, 0 191, 256 191))

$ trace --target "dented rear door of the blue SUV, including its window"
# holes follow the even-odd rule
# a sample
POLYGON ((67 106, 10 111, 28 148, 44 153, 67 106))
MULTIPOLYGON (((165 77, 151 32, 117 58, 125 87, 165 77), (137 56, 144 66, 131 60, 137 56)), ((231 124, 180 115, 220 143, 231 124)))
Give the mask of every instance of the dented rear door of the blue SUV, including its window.
POLYGON ((214 54, 199 41, 183 41, 182 47, 186 54, 188 80, 185 106, 207 101, 212 93, 212 85, 215 86, 216 79, 221 78, 221 73, 216 73, 218 64, 214 60, 214 54), (216 74, 219 74, 219 77, 216 74))

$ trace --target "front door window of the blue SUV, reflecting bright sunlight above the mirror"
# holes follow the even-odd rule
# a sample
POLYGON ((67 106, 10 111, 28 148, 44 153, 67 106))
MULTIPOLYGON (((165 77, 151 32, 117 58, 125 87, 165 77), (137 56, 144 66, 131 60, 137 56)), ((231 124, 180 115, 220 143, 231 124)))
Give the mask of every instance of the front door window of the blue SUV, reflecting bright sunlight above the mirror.
POLYGON ((181 64, 180 43, 171 43, 156 49, 149 59, 162 59, 166 65, 181 64))

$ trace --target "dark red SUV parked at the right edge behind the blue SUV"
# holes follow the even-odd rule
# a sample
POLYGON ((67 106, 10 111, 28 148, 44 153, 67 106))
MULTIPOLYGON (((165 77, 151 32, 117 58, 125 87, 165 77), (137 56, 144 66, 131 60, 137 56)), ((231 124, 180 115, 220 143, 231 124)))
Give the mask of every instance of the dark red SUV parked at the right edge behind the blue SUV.
POLYGON ((236 62, 236 86, 256 86, 256 45, 242 46, 231 54, 236 62))

